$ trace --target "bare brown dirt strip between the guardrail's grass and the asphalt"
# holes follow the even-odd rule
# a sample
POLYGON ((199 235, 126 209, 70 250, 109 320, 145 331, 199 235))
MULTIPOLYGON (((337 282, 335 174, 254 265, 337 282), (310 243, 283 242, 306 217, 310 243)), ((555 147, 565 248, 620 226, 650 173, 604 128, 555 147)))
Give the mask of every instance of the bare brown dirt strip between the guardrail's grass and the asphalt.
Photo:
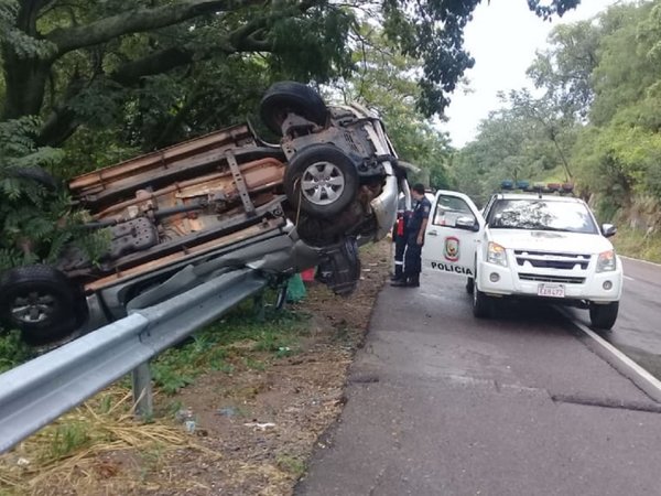
POLYGON ((196 443, 205 451, 172 453, 167 476, 182 485, 154 493, 291 494, 345 403, 347 368, 387 279, 390 244, 370 247, 361 261, 362 278, 349 298, 307 285, 307 298, 297 305, 312 315, 301 353, 264 370, 205 375, 178 395, 195 417, 196 443))

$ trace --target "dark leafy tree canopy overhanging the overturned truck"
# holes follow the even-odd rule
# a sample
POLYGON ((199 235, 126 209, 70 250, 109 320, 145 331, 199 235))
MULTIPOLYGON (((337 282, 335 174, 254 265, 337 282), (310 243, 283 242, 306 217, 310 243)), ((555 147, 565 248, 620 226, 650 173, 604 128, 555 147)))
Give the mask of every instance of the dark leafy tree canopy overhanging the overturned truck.
MULTIPOLYGON (((7 0, 0 119, 41 116, 42 144, 161 147, 242 118, 272 80, 351 76, 367 18, 421 62, 415 103, 432 116, 473 65, 463 31, 479 2, 7 0)), ((528 1, 543 18, 577 3, 528 1)))

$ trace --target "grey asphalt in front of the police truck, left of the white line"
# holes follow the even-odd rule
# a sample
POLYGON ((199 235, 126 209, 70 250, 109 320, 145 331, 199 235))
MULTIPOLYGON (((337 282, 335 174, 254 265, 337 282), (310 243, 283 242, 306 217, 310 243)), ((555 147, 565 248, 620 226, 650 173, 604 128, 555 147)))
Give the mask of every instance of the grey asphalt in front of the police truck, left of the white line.
MULTIPOLYGON (((641 283, 653 287, 647 272, 641 283)), ((622 303, 627 327, 642 314, 632 294, 622 303)), ((381 292, 347 400, 296 494, 661 490, 659 403, 553 309, 512 304, 475 320, 463 282, 441 274, 381 292)))

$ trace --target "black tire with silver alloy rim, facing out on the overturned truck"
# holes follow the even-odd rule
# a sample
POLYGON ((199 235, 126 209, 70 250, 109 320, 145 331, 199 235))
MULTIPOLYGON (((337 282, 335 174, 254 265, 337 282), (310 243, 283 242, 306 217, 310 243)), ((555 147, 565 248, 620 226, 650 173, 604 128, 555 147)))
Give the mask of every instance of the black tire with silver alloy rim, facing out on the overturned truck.
POLYGON ((354 162, 332 144, 304 148, 284 173, 284 192, 294 208, 328 218, 344 211, 358 192, 354 162))

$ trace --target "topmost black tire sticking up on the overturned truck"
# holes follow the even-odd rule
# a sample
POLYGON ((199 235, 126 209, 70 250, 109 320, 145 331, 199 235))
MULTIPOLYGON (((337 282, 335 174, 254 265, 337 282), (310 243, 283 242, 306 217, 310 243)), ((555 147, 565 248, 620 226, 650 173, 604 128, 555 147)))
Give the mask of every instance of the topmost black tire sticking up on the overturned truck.
POLYGON ((324 126, 328 117, 328 109, 319 94, 310 86, 293 80, 273 84, 264 94, 259 112, 264 125, 278 136, 282 136, 280 126, 288 112, 319 126, 324 126))

